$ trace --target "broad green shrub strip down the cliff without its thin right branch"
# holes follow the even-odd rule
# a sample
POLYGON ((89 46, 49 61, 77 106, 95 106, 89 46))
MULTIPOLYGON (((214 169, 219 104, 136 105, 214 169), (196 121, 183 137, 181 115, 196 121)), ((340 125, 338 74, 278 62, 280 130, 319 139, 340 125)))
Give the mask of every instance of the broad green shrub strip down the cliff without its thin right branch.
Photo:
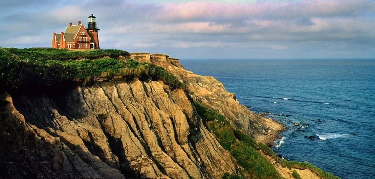
POLYGON ((216 113, 202 103, 194 101, 194 106, 204 120, 206 127, 215 134, 223 148, 233 155, 245 171, 250 174, 251 178, 282 179, 275 167, 258 151, 254 139, 241 131, 233 130, 223 115, 216 113))

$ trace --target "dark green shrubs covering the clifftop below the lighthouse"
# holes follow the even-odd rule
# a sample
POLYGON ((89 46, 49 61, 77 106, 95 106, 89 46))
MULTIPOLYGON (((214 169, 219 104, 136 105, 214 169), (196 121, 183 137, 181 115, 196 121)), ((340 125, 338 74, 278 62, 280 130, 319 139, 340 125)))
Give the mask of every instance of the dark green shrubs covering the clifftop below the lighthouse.
POLYGON ((7 91, 40 91, 93 84, 95 80, 135 77, 162 80, 172 88, 186 87, 154 64, 124 60, 122 50, 68 51, 51 48, 0 48, 0 86, 7 91))

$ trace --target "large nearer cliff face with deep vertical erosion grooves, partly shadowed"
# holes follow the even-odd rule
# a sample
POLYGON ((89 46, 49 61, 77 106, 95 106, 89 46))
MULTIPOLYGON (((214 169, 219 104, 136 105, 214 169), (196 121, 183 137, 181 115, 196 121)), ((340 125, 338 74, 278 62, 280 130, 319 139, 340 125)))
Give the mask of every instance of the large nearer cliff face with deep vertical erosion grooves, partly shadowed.
POLYGON ((185 92, 161 81, 1 101, 4 178, 218 179, 238 167, 185 92))

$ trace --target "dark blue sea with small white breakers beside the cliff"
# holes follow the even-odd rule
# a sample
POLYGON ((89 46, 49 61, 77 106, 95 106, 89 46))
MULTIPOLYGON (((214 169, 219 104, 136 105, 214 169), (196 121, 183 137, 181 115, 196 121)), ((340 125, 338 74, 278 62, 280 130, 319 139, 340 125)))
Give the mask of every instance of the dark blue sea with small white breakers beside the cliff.
POLYGON ((375 60, 182 59, 289 127, 273 149, 343 179, 375 179, 375 60), (299 123, 294 126, 293 123, 299 123))

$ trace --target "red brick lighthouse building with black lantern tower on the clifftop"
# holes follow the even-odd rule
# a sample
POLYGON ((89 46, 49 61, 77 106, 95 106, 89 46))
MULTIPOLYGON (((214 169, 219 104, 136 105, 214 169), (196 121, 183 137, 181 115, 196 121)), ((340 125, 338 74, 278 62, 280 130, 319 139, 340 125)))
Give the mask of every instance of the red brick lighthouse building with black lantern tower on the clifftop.
POLYGON ((69 23, 65 32, 52 33, 52 48, 55 49, 100 49, 99 28, 96 27, 96 17, 88 17, 87 29, 78 21, 77 25, 69 23))

